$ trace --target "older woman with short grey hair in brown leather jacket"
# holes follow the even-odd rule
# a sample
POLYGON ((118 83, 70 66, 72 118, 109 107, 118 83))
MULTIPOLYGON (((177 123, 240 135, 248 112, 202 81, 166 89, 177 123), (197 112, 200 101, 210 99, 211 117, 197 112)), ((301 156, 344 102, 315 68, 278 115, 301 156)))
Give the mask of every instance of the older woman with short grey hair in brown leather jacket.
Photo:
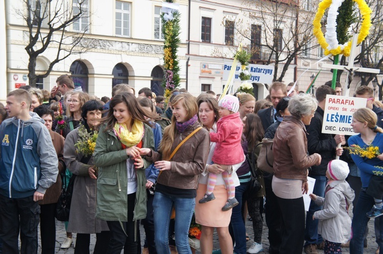
POLYGON ((304 125, 314 117, 318 102, 310 94, 293 96, 291 116, 284 116, 273 141, 274 176, 272 188, 282 215, 282 242, 279 253, 302 253, 304 241, 303 193, 307 193, 308 168, 319 165, 321 156, 307 154, 304 125))

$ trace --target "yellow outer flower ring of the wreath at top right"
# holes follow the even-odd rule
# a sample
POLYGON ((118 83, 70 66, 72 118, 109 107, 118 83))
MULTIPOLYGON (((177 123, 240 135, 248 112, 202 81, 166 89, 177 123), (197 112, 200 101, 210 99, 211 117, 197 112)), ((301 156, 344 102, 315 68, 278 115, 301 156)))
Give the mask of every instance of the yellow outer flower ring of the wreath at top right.
MULTIPOLYGON (((353 0, 355 3, 357 3, 359 10, 362 14, 362 26, 361 31, 357 38, 357 44, 361 43, 366 39, 367 35, 369 34, 369 30, 371 27, 371 9, 365 2, 365 0, 353 0)), ((347 46, 344 47, 344 49, 341 49, 341 46, 338 46, 337 48, 328 50, 328 43, 326 42, 326 38, 324 37, 321 29, 321 19, 323 17, 323 14, 325 10, 332 4, 332 0, 323 0, 319 6, 317 14, 315 15, 313 25, 314 25, 314 35, 317 37, 319 44, 323 49, 325 49, 324 54, 329 55, 332 54, 333 56, 343 54, 344 56, 348 57, 351 52, 351 41, 347 42, 347 46)))

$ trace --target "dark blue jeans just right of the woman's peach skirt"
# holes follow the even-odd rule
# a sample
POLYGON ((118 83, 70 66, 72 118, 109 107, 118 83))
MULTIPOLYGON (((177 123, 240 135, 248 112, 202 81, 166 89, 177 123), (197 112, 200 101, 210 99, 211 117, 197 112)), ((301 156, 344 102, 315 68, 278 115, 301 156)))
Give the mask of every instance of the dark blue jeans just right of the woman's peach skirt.
POLYGON ((242 197, 245 190, 247 189, 248 184, 249 182, 241 183, 241 185, 235 187, 235 198, 240 204, 233 208, 233 211, 231 213, 230 225, 232 228, 232 233, 234 235, 234 252, 236 254, 246 254, 246 228, 242 212, 242 197))

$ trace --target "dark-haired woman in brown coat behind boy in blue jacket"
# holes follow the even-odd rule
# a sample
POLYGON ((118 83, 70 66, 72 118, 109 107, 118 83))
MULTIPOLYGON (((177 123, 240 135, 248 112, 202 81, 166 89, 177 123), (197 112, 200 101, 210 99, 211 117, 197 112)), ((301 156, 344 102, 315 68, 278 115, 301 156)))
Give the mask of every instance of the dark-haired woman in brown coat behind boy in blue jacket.
POLYGON ((57 159, 59 160, 56 183, 49 187, 44 195, 44 198, 39 201, 41 208, 40 214, 40 235, 41 235, 41 254, 53 254, 56 248, 56 222, 55 211, 56 203, 61 194, 61 176, 60 173, 65 170, 65 163, 63 158, 64 138, 52 131, 52 122, 54 119, 54 112, 46 106, 38 106, 33 110, 44 121, 45 126, 51 134, 52 143, 55 147, 57 159))

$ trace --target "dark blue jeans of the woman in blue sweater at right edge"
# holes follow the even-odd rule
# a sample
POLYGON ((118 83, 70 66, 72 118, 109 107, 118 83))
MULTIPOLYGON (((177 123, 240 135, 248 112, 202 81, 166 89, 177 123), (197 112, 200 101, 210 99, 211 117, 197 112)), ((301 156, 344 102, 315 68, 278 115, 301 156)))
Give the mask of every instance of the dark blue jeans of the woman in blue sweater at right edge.
MULTIPOLYGON (((362 188, 358 202, 354 209, 354 214, 352 217, 352 238, 350 241, 350 254, 360 254, 363 253, 363 235, 365 233, 367 223, 370 220, 366 216, 366 213, 369 212, 372 206, 375 205, 374 198, 366 193, 366 189, 362 188)), ((379 220, 380 232, 376 234, 376 242, 380 247, 380 252, 383 253, 383 220, 379 220)))

